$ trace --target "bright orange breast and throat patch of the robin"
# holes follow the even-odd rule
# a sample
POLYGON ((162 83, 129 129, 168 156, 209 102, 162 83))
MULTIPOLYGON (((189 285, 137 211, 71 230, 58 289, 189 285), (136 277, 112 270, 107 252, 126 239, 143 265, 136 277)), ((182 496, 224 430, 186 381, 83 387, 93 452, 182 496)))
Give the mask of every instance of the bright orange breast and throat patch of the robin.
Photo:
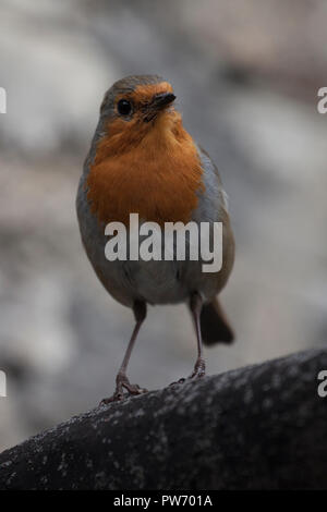
POLYGON ((96 148, 87 199, 99 222, 129 223, 131 212, 159 224, 187 222, 197 205, 202 167, 192 137, 175 112, 154 126, 110 123, 96 148))

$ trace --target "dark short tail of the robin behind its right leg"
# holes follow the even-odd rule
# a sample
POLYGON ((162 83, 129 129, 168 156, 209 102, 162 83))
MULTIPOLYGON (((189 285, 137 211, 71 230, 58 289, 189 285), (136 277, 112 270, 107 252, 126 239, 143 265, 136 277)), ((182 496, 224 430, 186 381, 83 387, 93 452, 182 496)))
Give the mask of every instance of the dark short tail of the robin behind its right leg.
POLYGON ((233 330, 217 297, 202 308, 201 332, 206 345, 231 343, 234 339, 233 330))

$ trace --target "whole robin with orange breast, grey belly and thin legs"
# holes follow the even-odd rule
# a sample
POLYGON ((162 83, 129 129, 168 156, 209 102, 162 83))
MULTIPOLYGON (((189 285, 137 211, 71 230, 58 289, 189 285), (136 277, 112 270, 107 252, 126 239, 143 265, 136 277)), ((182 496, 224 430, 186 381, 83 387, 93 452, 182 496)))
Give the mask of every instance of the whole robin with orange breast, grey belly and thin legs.
POLYGON ((116 392, 105 403, 146 391, 130 382, 126 368, 147 304, 189 305, 197 340, 191 379, 205 375, 203 342, 233 340, 217 298, 234 260, 226 194, 216 166, 183 127, 174 99, 171 85, 160 76, 128 76, 116 82, 102 100, 80 180, 76 208, 86 254, 106 290, 133 309, 136 321, 116 378, 116 392), (138 214, 141 222, 159 225, 222 222, 221 269, 204 272, 201 261, 190 258, 109 261, 105 228, 118 221, 129 230, 131 212, 138 214))

